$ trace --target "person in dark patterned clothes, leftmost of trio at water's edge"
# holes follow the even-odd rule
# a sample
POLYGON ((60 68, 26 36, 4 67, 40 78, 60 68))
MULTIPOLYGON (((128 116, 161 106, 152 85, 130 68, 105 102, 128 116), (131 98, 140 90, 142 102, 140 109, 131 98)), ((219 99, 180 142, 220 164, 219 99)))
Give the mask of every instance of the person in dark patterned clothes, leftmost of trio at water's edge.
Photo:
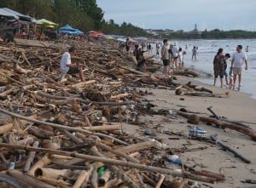
POLYGON ((213 60, 213 71, 214 71, 214 83, 213 86, 216 85, 216 81, 218 76, 220 77, 220 88, 223 88, 223 77, 224 77, 224 55, 223 48, 218 49, 218 53, 215 55, 213 60))

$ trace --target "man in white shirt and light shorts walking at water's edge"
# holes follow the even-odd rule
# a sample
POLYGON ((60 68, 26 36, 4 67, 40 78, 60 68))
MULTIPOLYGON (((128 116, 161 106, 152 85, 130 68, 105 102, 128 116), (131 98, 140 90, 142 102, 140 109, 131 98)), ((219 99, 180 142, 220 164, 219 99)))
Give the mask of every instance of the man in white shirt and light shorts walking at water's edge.
POLYGON ((233 90, 236 88, 236 75, 238 75, 238 90, 240 90, 241 87, 241 69, 242 66, 246 65, 245 70, 247 71, 248 69, 248 64, 247 64, 247 54, 241 51, 242 46, 238 45, 236 47, 236 52, 232 56, 232 61, 231 61, 231 68, 234 74, 234 85, 233 85, 233 90))

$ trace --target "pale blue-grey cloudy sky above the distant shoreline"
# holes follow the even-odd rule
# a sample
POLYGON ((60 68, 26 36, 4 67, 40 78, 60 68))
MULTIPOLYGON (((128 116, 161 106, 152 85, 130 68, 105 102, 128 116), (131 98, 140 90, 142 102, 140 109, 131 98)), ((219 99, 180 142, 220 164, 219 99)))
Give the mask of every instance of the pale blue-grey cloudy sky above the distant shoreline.
POLYGON ((104 19, 144 29, 256 31, 256 0, 97 0, 104 19))

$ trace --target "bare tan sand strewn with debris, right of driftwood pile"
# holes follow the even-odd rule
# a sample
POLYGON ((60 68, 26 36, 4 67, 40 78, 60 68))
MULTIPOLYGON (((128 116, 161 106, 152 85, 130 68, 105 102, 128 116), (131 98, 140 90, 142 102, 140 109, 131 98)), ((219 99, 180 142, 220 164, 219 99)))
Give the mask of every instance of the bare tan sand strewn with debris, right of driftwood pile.
MULTIPOLYGON (((177 96, 173 90, 153 88, 140 89, 148 90, 148 92, 152 93, 152 95, 148 95, 146 99, 151 100, 152 104, 157 105, 155 109, 170 109, 177 111, 181 106, 185 106, 189 111, 197 111, 210 115, 210 112, 207 111, 207 107, 212 105, 212 110, 215 111, 218 116, 228 117, 230 120, 234 121, 256 122, 256 100, 253 100, 249 94, 209 86, 204 83, 199 83, 195 79, 189 77, 177 77, 178 83, 188 83, 189 81, 199 87, 210 88, 215 94, 225 94, 226 92, 230 92, 230 95, 226 98, 206 98, 177 96), (180 100, 180 98, 183 98, 184 100, 180 100)), ((180 140, 169 140, 168 138, 173 137, 173 135, 159 133, 160 129, 166 128, 174 133, 188 135, 188 126, 193 125, 189 124, 183 117, 142 116, 140 118, 142 121, 146 122, 145 126, 139 127, 124 124, 124 131, 133 134, 140 139, 148 140, 154 138, 155 140, 160 140, 171 148, 171 151, 175 152, 183 163, 189 167, 193 167, 197 170, 208 170, 224 174, 226 177, 224 182, 207 185, 216 188, 253 186, 241 183, 241 180, 256 179, 256 142, 251 140, 248 136, 227 128, 225 130, 214 128, 203 122, 200 122, 198 125, 207 130, 207 136, 218 134, 218 140, 224 142, 225 145, 229 145, 231 148, 241 153, 242 156, 247 157, 247 159, 251 161, 251 164, 242 162, 239 158, 234 157, 232 153, 220 150, 220 147, 216 145, 210 145, 198 140, 188 140, 188 138, 185 137, 180 137, 180 140), (155 135, 144 135, 143 132, 146 128, 150 128, 155 135), (195 150, 193 151, 193 149, 195 150)), ((248 125, 256 130, 256 124, 248 125)), ((158 155, 159 154, 155 154, 154 157, 157 157, 158 155)), ((167 168, 175 169, 179 167, 175 164, 170 164, 167 168)), ((201 182, 198 183, 201 184, 201 182)), ((207 186, 202 185, 201 187, 207 186)))

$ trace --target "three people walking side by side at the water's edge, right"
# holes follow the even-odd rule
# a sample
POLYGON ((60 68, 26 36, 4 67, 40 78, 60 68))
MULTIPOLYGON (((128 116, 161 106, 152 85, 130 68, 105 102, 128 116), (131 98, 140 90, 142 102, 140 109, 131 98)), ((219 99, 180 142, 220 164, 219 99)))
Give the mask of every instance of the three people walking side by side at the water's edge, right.
POLYGON ((247 54, 242 51, 242 46, 236 47, 236 52, 232 55, 231 66, 229 71, 230 82, 228 81, 227 73, 227 60, 230 58, 230 54, 224 54, 224 49, 219 48, 218 53, 215 55, 213 60, 213 71, 214 71, 214 83, 216 85, 217 78, 220 77, 220 87, 224 86, 224 77, 226 85, 229 88, 236 89, 236 79, 238 77, 238 90, 241 88, 241 72, 244 64, 246 65, 245 70, 248 69, 247 54))

